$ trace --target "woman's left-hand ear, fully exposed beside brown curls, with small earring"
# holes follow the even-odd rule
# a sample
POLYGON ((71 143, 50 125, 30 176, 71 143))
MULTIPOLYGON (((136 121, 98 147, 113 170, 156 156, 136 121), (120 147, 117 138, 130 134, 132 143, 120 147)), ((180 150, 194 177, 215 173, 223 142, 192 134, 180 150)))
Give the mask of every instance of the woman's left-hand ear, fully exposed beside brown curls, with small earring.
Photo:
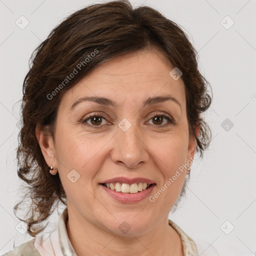
POLYGON ((35 135, 40 145, 45 162, 47 163, 49 168, 51 165, 53 167, 53 170, 51 170, 51 174, 56 174, 57 161, 55 157, 55 148, 52 137, 49 134, 46 134, 45 130, 43 130, 39 125, 36 125, 35 127, 35 135))

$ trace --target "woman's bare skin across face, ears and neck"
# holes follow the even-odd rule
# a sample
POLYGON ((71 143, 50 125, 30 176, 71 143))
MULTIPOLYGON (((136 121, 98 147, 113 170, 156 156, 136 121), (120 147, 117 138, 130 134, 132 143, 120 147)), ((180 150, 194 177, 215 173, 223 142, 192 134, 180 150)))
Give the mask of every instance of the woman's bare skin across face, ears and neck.
MULTIPOLYGON (((98 184, 106 179, 146 177, 156 186, 152 194, 195 153, 196 140, 188 134, 185 86, 174 80, 164 54, 157 48, 115 57, 94 69, 63 95, 57 112, 55 140, 36 127, 36 136, 52 174, 59 172, 67 195, 67 233, 78 256, 82 255, 183 255, 178 233, 168 225, 168 213, 179 196, 188 168, 154 201, 121 203, 98 184), (142 107, 148 97, 171 94, 181 104, 167 100, 142 107), (102 96, 119 106, 82 101, 82 96, 102 96), (89 113, 104 114, 93 122, 89 113), (153 114, 170 115, 154 121, 153 114), (118 127, 126 118, 127 131, 118 127), (99 126, 98 129, 89 125, 99 126), (67 174, 80 178, 72 183, 67 174), (123 221, 130 230, 123 234, 123 221), (86 252, 86 254, 85 254, 86 252), (96 254, 95 254, 96 255, 96 254)), ((163 117, 163 116, 162 116, 163 117)), ((198 127, 195 133, 198 135, 198 127)))

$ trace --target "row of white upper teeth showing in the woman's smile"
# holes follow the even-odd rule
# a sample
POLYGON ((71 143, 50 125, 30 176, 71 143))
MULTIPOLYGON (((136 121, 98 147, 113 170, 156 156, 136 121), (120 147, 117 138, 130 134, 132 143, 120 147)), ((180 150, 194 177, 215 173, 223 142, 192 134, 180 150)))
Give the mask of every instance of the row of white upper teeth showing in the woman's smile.
POLYGON ((110 188, 112 190, 115 190, 117 192, 122 192, 122 193, 137 193, 149 187, 149 184, 142 183, 142 182, 133 183, 133 184, 117 182, 117 183, 105 183, 104 185, 107 188, 110 188))

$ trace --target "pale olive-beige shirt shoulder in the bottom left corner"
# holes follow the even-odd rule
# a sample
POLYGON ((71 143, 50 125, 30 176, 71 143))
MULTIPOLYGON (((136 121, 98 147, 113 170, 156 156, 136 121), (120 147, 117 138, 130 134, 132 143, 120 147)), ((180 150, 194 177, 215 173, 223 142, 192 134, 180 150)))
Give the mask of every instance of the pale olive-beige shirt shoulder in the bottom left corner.
POLYGON ((34 247, 34 239, 20 244, 3 254, 2 256, 40 256, 39 252, 34 247))

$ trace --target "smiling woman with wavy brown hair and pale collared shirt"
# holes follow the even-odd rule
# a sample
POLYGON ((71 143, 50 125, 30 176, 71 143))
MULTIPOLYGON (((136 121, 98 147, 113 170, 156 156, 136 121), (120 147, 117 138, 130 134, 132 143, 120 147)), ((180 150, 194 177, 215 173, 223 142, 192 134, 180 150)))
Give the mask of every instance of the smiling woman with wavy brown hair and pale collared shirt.
POLYGON ((23 82, 20 220, 34 238, 4 255, 197 255, 168 213, 210 141, 207 84, 184 32, 150 7, 94 4, 56 26, 23 82))

